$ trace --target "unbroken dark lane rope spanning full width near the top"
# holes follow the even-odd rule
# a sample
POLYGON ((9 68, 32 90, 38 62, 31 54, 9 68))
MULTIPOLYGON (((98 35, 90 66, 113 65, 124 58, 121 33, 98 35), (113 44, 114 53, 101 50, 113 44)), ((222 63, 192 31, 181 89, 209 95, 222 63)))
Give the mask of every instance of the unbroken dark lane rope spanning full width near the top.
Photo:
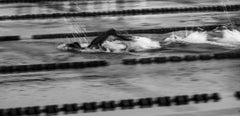
POLYGON ((179 8, 152 8, 152 9, 129 9, 120 11, 96 11, 96 12, 75 12, 75 13, 53 13, 53 14, 26 14, 0 16, 3 20, 29 20, 29 19, 55 19, 71 17, 99 17, 115 15, 148 15, 148 14, 166 14, 166 13, 192 13, 192 12, 225 12, 239 11, 240 4, 233 5, 215 5, 215 6, 198 6, 198 7, 179 7, 179 8))

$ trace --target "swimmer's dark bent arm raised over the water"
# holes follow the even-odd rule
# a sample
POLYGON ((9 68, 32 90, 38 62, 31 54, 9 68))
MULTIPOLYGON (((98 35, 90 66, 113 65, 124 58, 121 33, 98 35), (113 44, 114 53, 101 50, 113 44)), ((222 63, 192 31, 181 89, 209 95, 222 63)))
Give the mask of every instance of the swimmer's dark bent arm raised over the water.
POLYGON ((110 29, 108 30, 107 32, 103 33, 102 35, 96 37, 91 43, 90 45, 88 46, 89 48, 99 48, 99 46, 102 45, 102 43, 104 41, 107 40, 107 38, 112 35, 112 36, 116 36, 118 37, 119 39, 121 40, 125 40, 125 41, 131 41, 131 39, 129 39, 128 37, 126 36, 122 36, 122 35, 118 35, 117 34, 117 31, 115 29, 110 29))

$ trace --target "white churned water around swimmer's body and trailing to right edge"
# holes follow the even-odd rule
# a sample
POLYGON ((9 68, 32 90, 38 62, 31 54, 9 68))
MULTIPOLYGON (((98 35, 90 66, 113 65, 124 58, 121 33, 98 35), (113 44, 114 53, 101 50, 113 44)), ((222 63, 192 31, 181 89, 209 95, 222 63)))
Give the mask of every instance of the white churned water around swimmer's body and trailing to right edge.
MULTIPOLYGON (((213 46, 213 48, 219 49, 235 49, 240 48, 240 32, 237 29, 218 29, 212 31, 215 33, 215 36, 209 36, 210 33, 207 31, 190 31, 190 33, 185 36, 178 36, 177 34, 172 33, 168 38, 159 42, 152 40, 147 37, 131 36, 132 41, 121 41, 116 39, 113 36, 110 36, 110 39, 107 39, 102 46, 104 49, 92 50, 92 49, 81 49, 81 52, 110 52, 110 53, 122 53, 129 51, 146 51, 152 49, 159 49, 162 46, 165 47, 177 47, 179 49, 186 46, 194 45, 196 48, 201 46, 201 49, 204 46, 213 46), (219 35, 222 35, 218 37, 219 35), (198 46, 199 44, 200 46, 198 46), (179 46, 180 45, 180 46, 179 46)), ((87 47, 88 43, 81 43, 82 47, 87 47)), ((102 47, 100 47, 102 48, 102 47)), ((188 47, 189 48, 189 47, 188 47)), ((65 44, 58 46, 58 49, 66 50, 68 49, 65 44)), ((189 48, 193 49, 193 48, 189 48)), ((205 48, 206 50, 209 47, 205 48)))

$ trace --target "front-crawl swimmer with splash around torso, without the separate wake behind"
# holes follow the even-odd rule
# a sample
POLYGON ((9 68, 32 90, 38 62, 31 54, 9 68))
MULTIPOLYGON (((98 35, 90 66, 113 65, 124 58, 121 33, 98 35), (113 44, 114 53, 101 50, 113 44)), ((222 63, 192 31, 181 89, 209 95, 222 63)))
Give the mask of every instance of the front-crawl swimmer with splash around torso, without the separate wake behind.
POLYGON ((114 29, 96 37, 89 45, 73 42, 58 46, 58 49, 61 50, 97 50, 102 52, 138 52, 160 48, 161 45, 158 41, 146 37, 120 35, 114 29))

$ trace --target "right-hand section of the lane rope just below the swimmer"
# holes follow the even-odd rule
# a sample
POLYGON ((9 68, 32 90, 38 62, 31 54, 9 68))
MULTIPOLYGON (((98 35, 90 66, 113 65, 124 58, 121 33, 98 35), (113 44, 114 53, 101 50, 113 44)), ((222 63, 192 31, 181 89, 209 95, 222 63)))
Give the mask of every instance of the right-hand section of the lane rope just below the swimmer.
POLYGON ((162 57, 148 57, 148 58, 129 58, 123 59, 123 65, 137 65, 137 64, 152 64, 152 63, 177 63, 177 62, 192 62, 192 61, 206 61, 206 60, 222 60, 222 59, 240 59, 240 53, 224 52, 214 54, 200 54, 200 55, 185 55, 185 56, 162 56, 162 57))

